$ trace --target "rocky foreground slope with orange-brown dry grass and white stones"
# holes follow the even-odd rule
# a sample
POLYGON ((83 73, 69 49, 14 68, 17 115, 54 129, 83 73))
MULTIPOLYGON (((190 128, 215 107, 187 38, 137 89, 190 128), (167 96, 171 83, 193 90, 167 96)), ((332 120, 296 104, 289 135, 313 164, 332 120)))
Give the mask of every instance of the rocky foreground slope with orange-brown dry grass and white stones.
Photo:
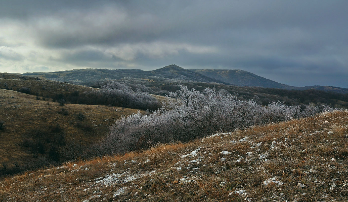
POLYGON ((1 201, 347 201, 348 111, 66 163, 2 180, 1 201))

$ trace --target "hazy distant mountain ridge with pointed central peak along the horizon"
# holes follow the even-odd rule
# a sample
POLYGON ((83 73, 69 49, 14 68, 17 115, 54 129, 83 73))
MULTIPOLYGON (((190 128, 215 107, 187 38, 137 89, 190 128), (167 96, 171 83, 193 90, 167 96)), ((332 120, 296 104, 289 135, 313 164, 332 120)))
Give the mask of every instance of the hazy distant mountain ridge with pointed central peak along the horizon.
POLYGON ((75 84, 84 84, 102 79, 121 79, 130 78, 149 78, 156 76, 161 79, 175 79, 182 81, 221 83, 231 86, 255 86, 264 88, 279 88, 287 90, 308 90, 316 89, 323 91, 333 91, 342 94, 348 93, 347 88, 333 86, 289 86, 283 83, 263 78, 245 70, 219 70, 219 69, 184 69, 177 65, 168 65, 157 70, 136 70, 136 69, 80 69, 58 72, 33 72, 24 73, 23 75, 38 76, 44 79, 52 79, 56 81, 71 81, 75 84))

